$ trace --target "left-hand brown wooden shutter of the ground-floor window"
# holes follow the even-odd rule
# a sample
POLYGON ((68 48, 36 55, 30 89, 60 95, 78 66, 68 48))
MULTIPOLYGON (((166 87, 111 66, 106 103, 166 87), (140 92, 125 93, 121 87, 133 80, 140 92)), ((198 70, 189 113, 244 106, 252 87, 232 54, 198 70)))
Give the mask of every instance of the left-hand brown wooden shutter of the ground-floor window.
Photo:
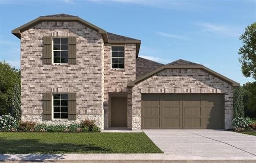
POLYGON ((51 120, 51 93, 43 93, 43 120, 51 120))

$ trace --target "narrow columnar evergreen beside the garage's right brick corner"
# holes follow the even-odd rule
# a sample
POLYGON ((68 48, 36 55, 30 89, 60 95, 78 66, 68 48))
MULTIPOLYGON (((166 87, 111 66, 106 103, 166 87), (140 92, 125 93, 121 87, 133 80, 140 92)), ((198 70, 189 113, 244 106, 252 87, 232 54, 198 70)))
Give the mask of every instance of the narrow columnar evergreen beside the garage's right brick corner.
POLYGON ((244 117, 243 93, 240 87, 234 90, 234 118, 244 117))

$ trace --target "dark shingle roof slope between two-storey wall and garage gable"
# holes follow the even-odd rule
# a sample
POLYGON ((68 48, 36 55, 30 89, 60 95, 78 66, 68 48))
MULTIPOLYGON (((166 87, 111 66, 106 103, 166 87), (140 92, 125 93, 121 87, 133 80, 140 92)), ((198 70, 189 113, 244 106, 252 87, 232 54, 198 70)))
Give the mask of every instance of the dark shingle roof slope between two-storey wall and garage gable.
POLYGON ((136 59, 136 78, 146 75, 151 71, 163 66, 163 64, 138 57, 136 59))

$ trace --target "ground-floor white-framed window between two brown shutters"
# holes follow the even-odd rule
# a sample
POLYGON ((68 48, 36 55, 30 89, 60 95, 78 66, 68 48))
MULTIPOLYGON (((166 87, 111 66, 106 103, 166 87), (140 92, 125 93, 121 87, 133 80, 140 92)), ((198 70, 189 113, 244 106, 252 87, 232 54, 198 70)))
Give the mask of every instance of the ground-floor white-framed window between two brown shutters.
POLYGON ((53 119, 68 118, 68 94, 53 94, 53 119))

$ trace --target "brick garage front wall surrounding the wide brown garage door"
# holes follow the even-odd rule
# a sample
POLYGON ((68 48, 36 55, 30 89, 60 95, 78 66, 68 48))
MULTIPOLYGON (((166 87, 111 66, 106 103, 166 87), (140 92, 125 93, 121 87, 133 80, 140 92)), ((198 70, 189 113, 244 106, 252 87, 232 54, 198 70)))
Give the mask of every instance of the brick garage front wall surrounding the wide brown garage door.
POLYGON ((132 88, 132 129, 141 129, 141 93, 224 93, 225 129, 232 128, 232 86, 200 69, 165 69, 132 88))

